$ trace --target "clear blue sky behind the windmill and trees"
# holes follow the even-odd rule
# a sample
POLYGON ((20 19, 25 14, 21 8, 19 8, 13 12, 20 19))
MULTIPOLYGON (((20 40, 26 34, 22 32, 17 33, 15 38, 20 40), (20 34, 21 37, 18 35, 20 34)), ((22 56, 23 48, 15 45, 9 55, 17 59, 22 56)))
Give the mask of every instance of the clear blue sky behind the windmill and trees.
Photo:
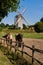
MULTIPOLYGON (((22 13, 24 9, 26 9, 26 11, 23 16, 28 20, 29 25, 34 25, 43 17, 43 0, 20 0, 20 8, 18 11, 22 13)), ((14 24, 17 14, 17 12, 10 12, 1 22, 14 24)))

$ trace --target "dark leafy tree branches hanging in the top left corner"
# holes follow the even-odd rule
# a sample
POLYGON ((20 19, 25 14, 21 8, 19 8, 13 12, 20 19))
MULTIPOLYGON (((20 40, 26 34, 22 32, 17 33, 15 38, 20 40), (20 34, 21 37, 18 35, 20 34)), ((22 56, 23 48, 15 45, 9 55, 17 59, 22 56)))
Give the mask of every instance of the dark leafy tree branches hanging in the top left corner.
POLYGON ((0 21, 8 12, 16 11, 20 0, 0 0, 0 21))

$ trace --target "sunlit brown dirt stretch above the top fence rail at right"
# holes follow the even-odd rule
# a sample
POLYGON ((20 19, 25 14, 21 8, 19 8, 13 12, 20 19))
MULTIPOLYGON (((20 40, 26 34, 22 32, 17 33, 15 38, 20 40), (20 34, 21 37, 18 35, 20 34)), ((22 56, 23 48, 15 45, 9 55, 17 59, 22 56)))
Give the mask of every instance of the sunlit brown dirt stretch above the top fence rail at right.
POLYGON ((23 41, 24 44, 30 47, 32 47, 32 45, 35 45, 36 48, 43 50, 43 39, 24 38, 23 41))

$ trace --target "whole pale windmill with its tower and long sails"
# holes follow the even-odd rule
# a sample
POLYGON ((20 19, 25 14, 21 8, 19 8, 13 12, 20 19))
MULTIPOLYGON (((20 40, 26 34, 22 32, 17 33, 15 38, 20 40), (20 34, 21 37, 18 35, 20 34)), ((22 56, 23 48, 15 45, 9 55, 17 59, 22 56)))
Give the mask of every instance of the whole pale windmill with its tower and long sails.
POLYGON ((23 29, 23 23, 22 23, 22 20, 24 20, 27 24, 28 21, 26 20, 26 18, 23 16, 23 14, 25 13, 26 9, 24 9, 22 11, 22 14, 20 12, 18 12, 19 14, 15 16, 16 18, 16 21, 14 23, 14 25, 17 27, 17 28, 20 28, 20 29, 23 29))

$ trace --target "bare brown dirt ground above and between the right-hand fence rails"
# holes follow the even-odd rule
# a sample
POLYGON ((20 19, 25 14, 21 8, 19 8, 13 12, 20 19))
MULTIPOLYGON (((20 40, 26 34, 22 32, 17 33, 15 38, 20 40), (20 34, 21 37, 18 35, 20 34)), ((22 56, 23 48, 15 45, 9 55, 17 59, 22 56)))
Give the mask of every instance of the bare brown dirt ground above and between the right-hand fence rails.
MULTIPOLYGON (((43 39, 24 38, 23 41, 25 45, 28 45, 30 47, 34 45, 35 48, 43 50, 43 39)), ((24 48, 24 51, 32 55, 32 51, 30 49, 24 48)), ((34 57, 43 62, 43 54, 35 52, 34 57)))

